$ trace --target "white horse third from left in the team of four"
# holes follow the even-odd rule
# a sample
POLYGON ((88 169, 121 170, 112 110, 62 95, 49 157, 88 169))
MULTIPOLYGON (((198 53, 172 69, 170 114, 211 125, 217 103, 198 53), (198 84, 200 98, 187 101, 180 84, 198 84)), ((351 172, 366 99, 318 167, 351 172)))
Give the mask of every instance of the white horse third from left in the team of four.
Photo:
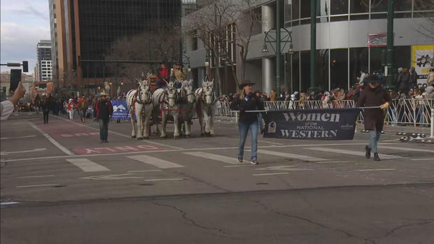
POLYGON ((195 92, 193 91, 193 80, 183 80, 181 85, 181 125, 184 124, 186 138, 191 135, 191 120, 195 115, 195 92))

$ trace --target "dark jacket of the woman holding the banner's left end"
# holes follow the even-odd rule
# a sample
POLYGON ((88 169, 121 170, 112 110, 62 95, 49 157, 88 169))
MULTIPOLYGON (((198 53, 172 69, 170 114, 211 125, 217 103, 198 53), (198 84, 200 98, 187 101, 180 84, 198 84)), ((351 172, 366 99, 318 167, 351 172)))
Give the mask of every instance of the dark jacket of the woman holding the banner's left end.
POLYGON ((244 99, 240 99, 239 97, 234 99, 230 104, 230 108, 232 110, 239 110, 238 122, 248 124, 258 121, 258 113, 245 112, 246 110, 265 110, 262 99, 253 93, 248 94, 244 99))

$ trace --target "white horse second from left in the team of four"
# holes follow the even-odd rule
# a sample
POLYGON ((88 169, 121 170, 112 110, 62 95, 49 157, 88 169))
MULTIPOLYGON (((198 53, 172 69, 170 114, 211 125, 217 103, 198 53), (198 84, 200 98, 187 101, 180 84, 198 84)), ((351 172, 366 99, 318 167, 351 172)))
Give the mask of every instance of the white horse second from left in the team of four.
POLYGON ((175 83, 170 81, 167 83, 166 89, 156 89, 153 93, 153 120, 158 129, 158 113, 161 113, 162 130, 160 138, 166 138, 167 118, 174 118, 174 138, 179 138, 179 93, 175 88, 175 83))

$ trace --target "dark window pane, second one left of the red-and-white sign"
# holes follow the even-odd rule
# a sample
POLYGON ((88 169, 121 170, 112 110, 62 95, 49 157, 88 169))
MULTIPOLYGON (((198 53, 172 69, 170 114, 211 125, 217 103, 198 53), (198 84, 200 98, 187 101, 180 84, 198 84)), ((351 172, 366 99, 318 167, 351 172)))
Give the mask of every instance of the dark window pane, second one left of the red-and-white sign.
POLYGON ((348 89, 348 49, 330 50, 330 89, 348 89))

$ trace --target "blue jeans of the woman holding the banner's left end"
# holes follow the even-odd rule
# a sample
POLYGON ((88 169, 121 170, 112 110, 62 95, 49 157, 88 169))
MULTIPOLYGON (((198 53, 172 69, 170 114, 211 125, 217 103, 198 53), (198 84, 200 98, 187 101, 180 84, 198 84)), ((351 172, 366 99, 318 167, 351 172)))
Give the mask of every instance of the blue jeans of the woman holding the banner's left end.
POLYGON ((252 150, 251 150, 251 160, 257 160, 258 152, 258 120, 251 123, 238 122, 239 131, 239 143, 238 143, 238 157, 243 158, 244 155, 244 144, 246 143, 246 138, 248 131, 250 131, 252 150))

